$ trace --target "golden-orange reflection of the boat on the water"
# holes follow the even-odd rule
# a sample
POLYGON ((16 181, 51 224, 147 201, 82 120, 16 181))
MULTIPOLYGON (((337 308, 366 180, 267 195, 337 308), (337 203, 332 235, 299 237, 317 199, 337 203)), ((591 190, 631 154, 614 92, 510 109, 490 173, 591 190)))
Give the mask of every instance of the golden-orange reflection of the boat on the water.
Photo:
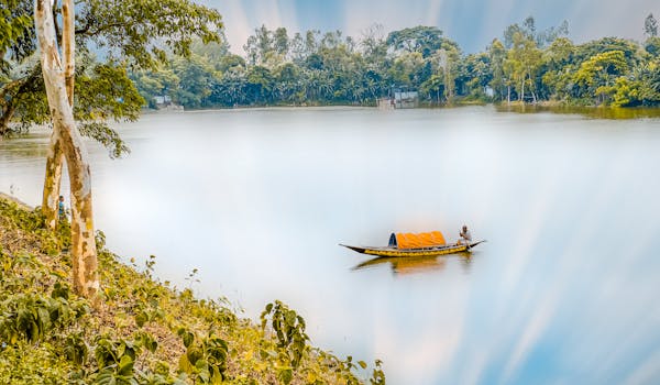
POLYGON ((470 273, 472 265, 472 253, 455 253, 452 255, 437 256, 378 256, 364 261, 354 266, 353 271, 373 268, 380 265, 389 264, 394 275, 419 274, 428 272, 439 272, 447 267, 447 260, 459 257, 461 266, 465 273, 470 273))

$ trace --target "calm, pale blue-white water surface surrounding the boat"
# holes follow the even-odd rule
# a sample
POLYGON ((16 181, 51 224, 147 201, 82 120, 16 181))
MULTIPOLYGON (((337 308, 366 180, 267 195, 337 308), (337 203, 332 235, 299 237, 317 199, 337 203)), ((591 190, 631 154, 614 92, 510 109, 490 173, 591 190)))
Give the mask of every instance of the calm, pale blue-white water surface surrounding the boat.
MULTIPOLYGON (((446 110, 147 114, 90 145, 97 227, 127 257, 391 384, 660 382, 660 119, 446 110), (466 223, 488 242, 354 270, 338 243, 466 223), (194 270, 200 282, 187 280, 194 270)), ((40 202, 46 134, 0 142, 0 190, 40 202)))

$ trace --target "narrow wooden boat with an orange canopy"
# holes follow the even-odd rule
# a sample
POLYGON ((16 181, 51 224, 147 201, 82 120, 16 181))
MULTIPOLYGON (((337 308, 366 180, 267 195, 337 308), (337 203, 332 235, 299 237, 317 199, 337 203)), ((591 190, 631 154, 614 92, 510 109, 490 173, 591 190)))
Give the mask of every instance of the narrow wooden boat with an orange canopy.
POLYGON ((485 241, 472 242, 470 244, 447 244, 444 237, 439 231, 428 233, 397 233, 389 237, 389 245, 377 246, 351 246, 339 244, 362 254, 377 256, 437 256, 454 253, 470 252, 472 248, 485 241))

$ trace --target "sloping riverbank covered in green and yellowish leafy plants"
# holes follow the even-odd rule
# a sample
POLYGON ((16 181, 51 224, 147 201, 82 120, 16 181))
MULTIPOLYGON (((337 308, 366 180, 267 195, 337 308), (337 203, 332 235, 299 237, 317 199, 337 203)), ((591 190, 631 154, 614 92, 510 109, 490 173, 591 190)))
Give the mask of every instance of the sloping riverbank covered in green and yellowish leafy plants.
MULTIPOLYGON (((257 326, 223 299, 160 282, 154 257, 145 266, 121 263, 102 233, 102 304, 94 308, 69 289, 69 229, 42 223, 38 212, 0 195, 0 383, 365 381, 363 362, 310 345, 302 318, 284 304, 268 305, 257 326)), ((384 382, 380 364, 373 375, 384 382)))

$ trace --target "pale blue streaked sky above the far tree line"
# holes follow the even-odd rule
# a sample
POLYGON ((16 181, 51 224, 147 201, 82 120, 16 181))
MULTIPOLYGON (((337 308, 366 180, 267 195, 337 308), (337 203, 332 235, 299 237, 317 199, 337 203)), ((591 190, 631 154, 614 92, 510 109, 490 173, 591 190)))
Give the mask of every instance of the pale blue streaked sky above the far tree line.
POLYGON ((231 51, 244 54, 254 29, 295 32, 340 30, 359 38, 373 24, 385 32, 435 25, 463 52, 482 52, 504 29, 532 15, 537 30, 569 22, 575 43, 604 36, 644 40, 649 13, 660 20, 660 0, 199 0, 223 16, 231 51))

